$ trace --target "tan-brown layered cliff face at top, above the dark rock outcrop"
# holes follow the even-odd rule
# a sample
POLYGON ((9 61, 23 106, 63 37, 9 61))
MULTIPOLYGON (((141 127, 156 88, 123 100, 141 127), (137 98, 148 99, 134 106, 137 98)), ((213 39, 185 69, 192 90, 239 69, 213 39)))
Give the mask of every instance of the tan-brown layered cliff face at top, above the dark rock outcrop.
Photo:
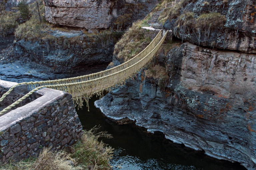
POLYGON ((156 0, 44 0, 45 19, 87 30, 122 28, 149 12, 156 0))

